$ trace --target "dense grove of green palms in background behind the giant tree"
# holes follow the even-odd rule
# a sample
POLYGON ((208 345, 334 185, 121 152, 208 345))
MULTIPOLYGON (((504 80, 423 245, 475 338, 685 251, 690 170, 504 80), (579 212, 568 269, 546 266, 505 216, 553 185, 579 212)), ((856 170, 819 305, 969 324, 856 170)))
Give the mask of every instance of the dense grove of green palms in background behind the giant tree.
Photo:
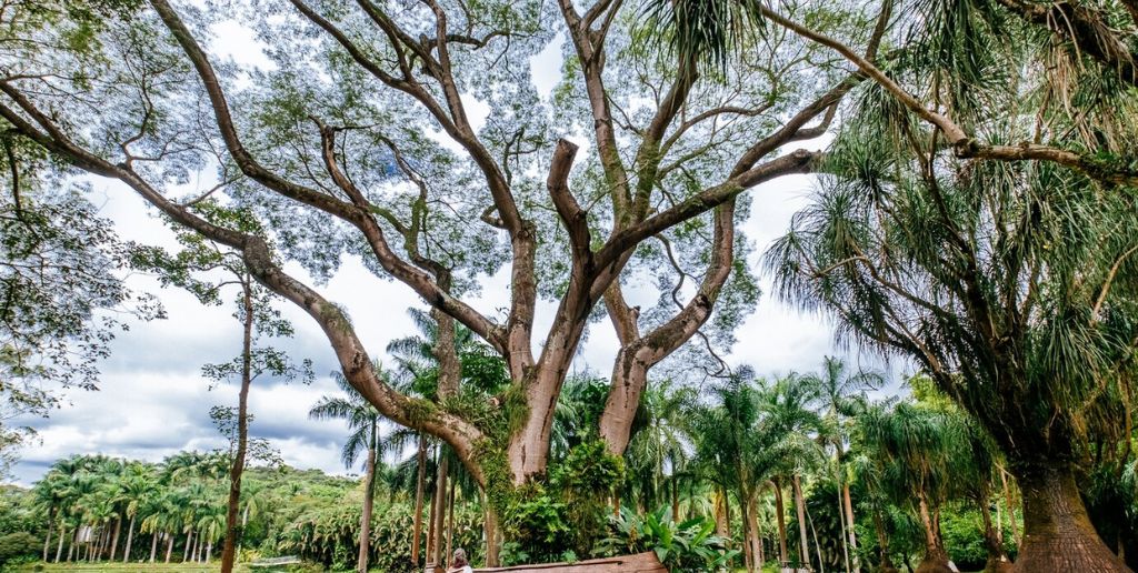
MULTIPOLYGON (((395 346, 414 350, 417 340, 423 341, 395 346)), ((422 384, 430 368, 413 363, 404 360, 404 372, 418 373, 422 384)), ((641 401, 628 451, 612 459, 595 435, 595 398, 605 381, 571 377, 553 446, 552 483, 564 497, 522 504, 508 516, 503 560, 651 549, 677 571, 777 563, 938 571, 947 559, 964 571, 1008 570, 1022 523, 1006 462, 927 377, 905 381, 908 398, 873 398, 888 385, 834 358, 817 373, 739 372, 702 393, 662 380, 641 401)), ((477 485, 452 473, 447 490, 435 495, 439 460, 453 452, 391 430, 341 387, 344 393, 312 412, 349 421, 344 458, 349 468, 363 466, 364 478, 279 464, 251 468, 240 500, 241 558, 296 555, 354 567, 370 492, 371 567, 419 570, 435 540, 480 563, 477 485)), ((224 451, 182 452, 158 464, 61 459, 30 490, 5 491, 0 526, 9 537, 33 534, 25 558, 32 550, 46 562, 209 563, 224 532, 229 464, 224 451)), ((1128 556, 1138 555, 1133 467, 1102 458, 1081 482, 1095 526, 1128 556)))

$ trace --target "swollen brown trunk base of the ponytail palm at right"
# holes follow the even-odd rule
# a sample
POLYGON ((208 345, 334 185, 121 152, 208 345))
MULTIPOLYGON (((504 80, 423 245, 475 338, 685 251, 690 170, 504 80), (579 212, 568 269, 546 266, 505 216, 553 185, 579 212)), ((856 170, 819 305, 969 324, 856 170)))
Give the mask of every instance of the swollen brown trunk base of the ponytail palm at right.
POLYGON ((1131 571, 1099 539, 1070 467, 1033 467, 1017 473, 1023 495, 1023 545, 1015 571, 1131 571))

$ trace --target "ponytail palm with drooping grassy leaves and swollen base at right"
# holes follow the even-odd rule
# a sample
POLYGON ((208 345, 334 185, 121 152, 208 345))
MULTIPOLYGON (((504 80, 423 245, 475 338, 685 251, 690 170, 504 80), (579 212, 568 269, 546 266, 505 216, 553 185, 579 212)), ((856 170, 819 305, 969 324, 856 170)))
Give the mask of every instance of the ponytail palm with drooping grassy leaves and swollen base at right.
MULTIPOLYGON (((1063 125, 1009 121, 1030 101, 1015 91, 984 97, 972 111, 992 138, 1063 125)), ((1059 163, 960 157, 890 90, 861 98, 832 149, 836 176, 770 252, 781 292, 833 313, 840 335, 917 360, 991 433, 1023 490, 1017 570, 1124 571, 1077 479, 1091 440, 1131 427, 1132 196, 1059 163)))

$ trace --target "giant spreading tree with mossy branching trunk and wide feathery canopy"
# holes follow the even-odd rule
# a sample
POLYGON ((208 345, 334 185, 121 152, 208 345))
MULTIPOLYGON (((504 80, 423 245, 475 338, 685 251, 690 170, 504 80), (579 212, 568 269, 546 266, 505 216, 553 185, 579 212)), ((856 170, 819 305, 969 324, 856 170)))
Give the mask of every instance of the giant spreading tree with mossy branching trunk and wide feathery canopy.
MULTIPOLYGON (((71 19, 57 2, 2 14, 14 38, 35 39, 3 45, 8 131, 240 252, 256 281, 320 324, 353 387, 386 417, 445 440, 498 507, 544 474, 556 397, 602 299, 621 350, 600 433, 624 450, 648 369, 708 321, 740 266, 736 198, 810 171, 816 153, 780 150, 820 134, 860 80, 791 35, 756 40, 737 66, 701 76, 690 58, 653 50, 635 30, 638 7, 619 0, 583 10, 291 0, 208 17, 166 0, 91 6, 102 17, 71 19), (272 66, 218 65, 209 17, 255 28, 272 66), (558 32, 566 77, 543 99, 530 57, 558 32), (564 138, 583 135, 589 157, 571 176, 578 146, 564 138), (179 189, 209 169, 217 185, 206 192, 254 209, 279 256, 179 189), (638 249, 651 238, 707 249, 679 249, 692 256, 676 266, 700 277, 675 292, 681 308, 641 316, 622 282, 675 254, 638 249), (286 264, 319 280, 345 254, 502 355, 512 383, 488 410, 395 391, 345 310, 286 264), (460 298, 503 265, 501 315, 460 298), (544 335, 539 297, 555 301, 544 335)), ((842 19, 828 22, 843 34, 842 19)), ((872 59, 876 40, 856 40, 872 59)))

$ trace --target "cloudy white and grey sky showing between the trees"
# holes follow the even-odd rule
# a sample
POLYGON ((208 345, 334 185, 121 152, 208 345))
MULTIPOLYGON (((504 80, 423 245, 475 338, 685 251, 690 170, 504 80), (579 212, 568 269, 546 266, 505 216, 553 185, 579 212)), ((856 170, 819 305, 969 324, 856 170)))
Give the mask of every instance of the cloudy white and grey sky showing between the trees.
MULTIPOLYGON (((216 32, 215 57, 232 58, 245 65, 266 61, 251 34, 239 25, 224 24, 216 32)), ((543 93, 549 93, 560 76, 561 42, 555 40, 535 58, 535 84, 543 93)), ((478 106, 472 107, 472 115, 477 116, 478 106)), ((586 151, 583 149, 582 155, 586 151)), ((123 239, 173 246, 170 230, 131 191, 105 180, 92 183, 97 190, 93 200, 102 206, 102 215, 116 223, 123 239)), ((743 231, 758 247, 756 259, 786 229, 790 216, 803 206, 811 184, 808 176, 782 177, 745 196, 745 200, 754 201, 743 231)), ((757 265, 757 260, 751 264, 757 265)), ((290 271, 304 276, 298 268, 290 271)), ((229 360, 240 351, 240 324, 233 318, 232 308, 204 307, 185 292, 160 289, 148 276, 131 275, 127 283, 137 291, 157 294, 168 317, 133 323, 129 332, 115 340, 112 357, 101 365, 98 391, 68 391, 63 407, 50 417, 18 421, 33 426, 40 438, 38 445, 23 451, 23 459, 15 468, 18 483, 34 482, 56 459, 73 454, 98 452, 156 462, 178 450, 223 445, 211 424, 209 408, 236 406, 237 387, 230 383, 209 390, 200 368, 206 363, 229 360)), ((489 279, 473 306, 487 313, 508 306, 505 285, 502 276, 489 279)), ((345 264, 320 290, 348 309, 361 339, 372 352, 380 352, 388 341, 414 332, 405 309, 423 306, 407 288, 374 277, 356 260, 345 264)), ((270 439, 290 465, 346 473, 339 460, 346 427, 339 422, 307 417, 308 408, 322 395, 336 391, 328 376, 336 368, 335 356, 310 317, 291 305, 279 307, 291 318, 296 337, 278 346, 287 348, 297 359, 312 359, 318 379, 307 385, 256 381, 249 397, 249 409, 255 416, 251 433, 270 439)), ((551 304, 539 308, 536 332, 547 327, 552 310, 551 304)), ((729 362, 750 365, 760 374, 810 371, 827 354, 844 356, 855 367, 877 364, 873 357, 833 348, 825 321, 780 304, 770 294, 766 280, 764 294, 737 332, 737 339, 729 362)), ((616 337, 608 322, 603 322, 591 330, 575 367, 607 373, 616 348, 616 337)), ((377 356, 385 358, 381 354, 377 356)), ((892 367, 898 368, 896 364, 892 367)))

